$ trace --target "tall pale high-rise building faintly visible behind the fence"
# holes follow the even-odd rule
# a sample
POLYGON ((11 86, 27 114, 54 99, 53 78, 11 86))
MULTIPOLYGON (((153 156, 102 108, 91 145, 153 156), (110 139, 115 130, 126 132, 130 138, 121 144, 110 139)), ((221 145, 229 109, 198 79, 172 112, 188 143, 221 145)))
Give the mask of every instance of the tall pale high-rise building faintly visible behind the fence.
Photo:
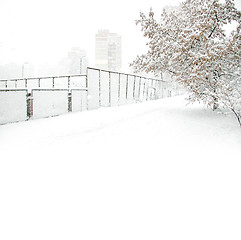
POLYGON ((95 35, 95 66, 111 71, 121 70, 121 36, 108 30, 95 35))

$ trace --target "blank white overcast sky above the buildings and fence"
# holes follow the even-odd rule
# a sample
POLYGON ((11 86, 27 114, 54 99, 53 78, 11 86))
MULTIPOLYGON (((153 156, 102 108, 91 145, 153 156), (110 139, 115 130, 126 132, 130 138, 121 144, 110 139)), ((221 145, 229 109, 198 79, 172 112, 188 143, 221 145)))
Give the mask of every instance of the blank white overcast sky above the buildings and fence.
MULTIPOLYGON (((241 5, 241 0, 236 0, 241 5)), ((145 52, 145 39, 135 25, 150 7, 160 16, 163 6, 180 0, 0 0, 0 62, 58 61, 71 47, 87 51, 94 66, 95 33, 109 29, 122 36, 124 68, 145 52)))

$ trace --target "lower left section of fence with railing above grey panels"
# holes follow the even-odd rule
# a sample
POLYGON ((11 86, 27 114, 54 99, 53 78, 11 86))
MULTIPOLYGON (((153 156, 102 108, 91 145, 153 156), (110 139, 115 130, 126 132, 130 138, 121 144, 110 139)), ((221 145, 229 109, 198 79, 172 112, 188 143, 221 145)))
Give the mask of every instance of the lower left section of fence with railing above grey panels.
POLYGON ((0 80, 0 124, 86 110, 86 86, 86 75, 0 80))

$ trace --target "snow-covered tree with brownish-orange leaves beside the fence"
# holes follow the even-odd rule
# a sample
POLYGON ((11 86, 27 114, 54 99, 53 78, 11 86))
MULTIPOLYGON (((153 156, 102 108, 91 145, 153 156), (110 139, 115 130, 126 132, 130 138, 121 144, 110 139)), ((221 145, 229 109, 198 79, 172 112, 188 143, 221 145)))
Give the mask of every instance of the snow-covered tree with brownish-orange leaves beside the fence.
POLYGON ((136 22, 149 47, 131 64, 136 71, 169 72, 190 101, 227 107, 241 126, 241 12, 233 0, 186 0, 164 8, 160 22, 152 10, 136 22), (235 29, 227 34, 231 24, 235 29))

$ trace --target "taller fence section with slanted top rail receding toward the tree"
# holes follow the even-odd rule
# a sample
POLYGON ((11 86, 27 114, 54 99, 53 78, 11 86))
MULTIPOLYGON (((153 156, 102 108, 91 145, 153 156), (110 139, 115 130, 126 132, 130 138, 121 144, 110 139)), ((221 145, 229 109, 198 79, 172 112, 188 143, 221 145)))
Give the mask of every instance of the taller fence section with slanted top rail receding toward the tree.
POLYGON ((89 109, 119 106, 168 96, 160 79, 87 68, 89 109))

